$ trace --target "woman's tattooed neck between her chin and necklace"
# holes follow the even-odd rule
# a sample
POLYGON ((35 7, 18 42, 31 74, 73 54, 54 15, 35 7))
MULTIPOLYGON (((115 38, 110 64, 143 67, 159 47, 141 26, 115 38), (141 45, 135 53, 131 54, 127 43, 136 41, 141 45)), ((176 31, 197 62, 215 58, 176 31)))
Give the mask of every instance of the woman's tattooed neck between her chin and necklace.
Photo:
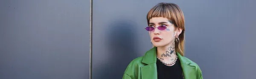
POLYGON ((167 63, 173 62, 176 59, 175 42, 163 47, 157 47, 157 57, 167 63))

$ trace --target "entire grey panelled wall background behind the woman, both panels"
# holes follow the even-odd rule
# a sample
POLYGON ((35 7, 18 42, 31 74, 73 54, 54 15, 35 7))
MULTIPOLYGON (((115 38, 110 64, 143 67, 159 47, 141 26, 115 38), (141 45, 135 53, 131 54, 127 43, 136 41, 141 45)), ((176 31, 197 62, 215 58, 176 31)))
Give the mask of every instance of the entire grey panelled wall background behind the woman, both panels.
MULTIPOLYGON (((255 79, 255 0, 161 0, 186 22, 185 56, 204 79, 255 79)), ((93 0, 93 79, 121 79, 152 45, 157 0, 93 0)), ((90 0, 1 0, 0 79, 89 79, 90 0)))

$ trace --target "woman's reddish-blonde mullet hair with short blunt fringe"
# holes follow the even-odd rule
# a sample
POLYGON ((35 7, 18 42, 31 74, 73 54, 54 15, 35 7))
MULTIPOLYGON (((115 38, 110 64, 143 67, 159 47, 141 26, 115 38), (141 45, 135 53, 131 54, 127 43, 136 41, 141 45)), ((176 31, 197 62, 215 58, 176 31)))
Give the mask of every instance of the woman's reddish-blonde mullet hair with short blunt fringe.
POLYGON ((149 20, 153 17, 166 17, 168 20, 172 21, 173 25, 175 25, 175 29, 182 29, 180 35, 178 36, 179 41, 175 43, 175 51, 184 56, 185 20, 183 12, 179 6, 177 6, 175 3, 158 3, 156 6, 151 8, 150 11, 148 11, 148 25, 149 20))

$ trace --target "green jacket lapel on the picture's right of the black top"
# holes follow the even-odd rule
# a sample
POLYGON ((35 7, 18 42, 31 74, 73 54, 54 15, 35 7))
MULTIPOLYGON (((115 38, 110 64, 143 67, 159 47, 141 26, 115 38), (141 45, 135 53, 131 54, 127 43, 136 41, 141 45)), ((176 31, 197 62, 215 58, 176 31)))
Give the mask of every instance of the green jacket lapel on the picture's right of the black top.
POLYGON ((187 58, 181 56, 179 53, 177 53, 177 56, 178 56, 178 59, 180 59, 180 65, 183 71, 184 78, 196 79, 195 65, 192 65, 187 58))

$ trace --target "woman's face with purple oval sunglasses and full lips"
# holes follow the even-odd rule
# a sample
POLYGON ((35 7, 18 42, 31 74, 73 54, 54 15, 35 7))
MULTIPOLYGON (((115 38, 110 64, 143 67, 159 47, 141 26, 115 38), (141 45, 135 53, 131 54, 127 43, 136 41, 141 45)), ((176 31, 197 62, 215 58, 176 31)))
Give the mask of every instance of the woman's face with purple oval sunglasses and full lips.
POLYGON ((175 31, 175 26, 171 22, 169 22, 167 18, 153 17, 149 20, 149 26, 155 27, 153 31, 149 31, 152 44, 155 47, 171 45, 175 41, 175 37, 177 34, 175 32, 177 32, 177 30, 175 31), (165 25, 166 29, 158 29, 158 26, 164 27, 160 25, 165 25))

